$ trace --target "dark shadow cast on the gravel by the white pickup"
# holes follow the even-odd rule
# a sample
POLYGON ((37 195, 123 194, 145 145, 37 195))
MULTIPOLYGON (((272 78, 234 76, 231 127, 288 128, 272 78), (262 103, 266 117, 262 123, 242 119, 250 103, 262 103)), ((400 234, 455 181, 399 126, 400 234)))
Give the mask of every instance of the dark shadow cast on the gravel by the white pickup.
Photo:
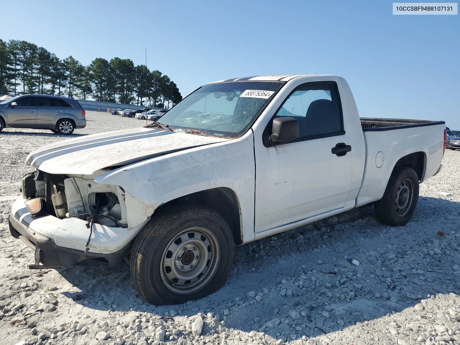
POLYGON ((358 208, 236 247, 224 287, 187 304, 145 303, 133 289, 124 262, 112 268, 61 269, 81 289, 63 294, 100 311, 163 317, 212 313, 203 334, 223 320, 226 328, 291 340, 359 326, 412 308, 429 296, 458 293, 457 272, 451 266, 460 262, 460 235, 452 231, 459 226, 459 202, 420 197, 411 222, 403 227, 379 223, 373 211, 373 206, 358 208), (450 216, 439 219, 440 214, 450 216), (360 265, 349 264, 346 254, 360 265), (212 321, 216 315, 219 320, 212 321))

